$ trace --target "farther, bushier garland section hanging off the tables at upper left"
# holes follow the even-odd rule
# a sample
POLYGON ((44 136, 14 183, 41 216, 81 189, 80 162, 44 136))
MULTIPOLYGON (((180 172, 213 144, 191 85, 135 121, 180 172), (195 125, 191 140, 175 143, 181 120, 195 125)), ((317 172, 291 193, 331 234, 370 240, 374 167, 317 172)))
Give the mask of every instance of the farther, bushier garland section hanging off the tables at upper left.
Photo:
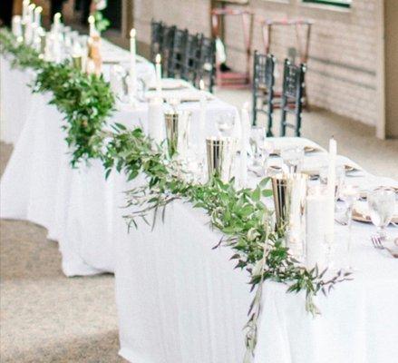
POLYGON ((63 113, 72 165, 101 157, 102 130, 115 103, 109 83, 102 76, 81 72, 69 61, 61 64, 44 61, 32 47, 17 42, 5 29, 0 31, 0 44, 2 53, 14 56, 15 66, 36 72, 34 92, 49 93, 50 103, 63 113))

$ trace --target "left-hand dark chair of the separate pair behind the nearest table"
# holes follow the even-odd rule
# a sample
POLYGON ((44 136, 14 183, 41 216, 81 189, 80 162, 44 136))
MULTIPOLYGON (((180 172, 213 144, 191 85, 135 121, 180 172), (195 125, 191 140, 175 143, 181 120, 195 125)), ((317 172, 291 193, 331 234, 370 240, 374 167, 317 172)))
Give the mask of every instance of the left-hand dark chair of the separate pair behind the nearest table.
POLYGON ((277 60, 272 54, 254 53, 253 65, 253 124, 257 124, 257 114, 267 115, 267 136, 273 136, 274 115, 274 70, 277 60))

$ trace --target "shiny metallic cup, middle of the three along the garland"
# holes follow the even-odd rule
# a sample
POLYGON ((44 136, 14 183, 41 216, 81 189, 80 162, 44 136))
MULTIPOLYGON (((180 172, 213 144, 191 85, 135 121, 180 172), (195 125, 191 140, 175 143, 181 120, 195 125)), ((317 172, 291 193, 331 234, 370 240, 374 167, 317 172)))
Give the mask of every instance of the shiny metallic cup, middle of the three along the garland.
POLYGON ((209 179, 218 176, 229 182, 235 161, 237 141, 232 137, 210 137, 206 139, 209 179))

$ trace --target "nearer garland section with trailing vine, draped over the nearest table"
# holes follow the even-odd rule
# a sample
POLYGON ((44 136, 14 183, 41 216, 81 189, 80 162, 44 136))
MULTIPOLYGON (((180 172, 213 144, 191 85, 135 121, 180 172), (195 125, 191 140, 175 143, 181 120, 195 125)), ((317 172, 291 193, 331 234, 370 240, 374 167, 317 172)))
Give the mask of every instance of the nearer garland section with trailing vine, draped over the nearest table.
POLYGON ((116 167, 134 179, 141 172, 147 176, 143 185, 127 191, 127 207, 133 211, 126 215, 129 225, 138 226, 137 220, 150 224, 147 216, 153 212, 152 227, 160 213, 171 201, 189 201, 194 208, 207 212, 212 228, 222 232, 220 245, 234 250, 231 260, 236 260, 237 269, 245 269, 251 275, 252 290, 257 289, 249 309, 246 326, 248 348, 245 362, 253 356, 257 342, 257 319, 261 312, 261 293, 266 280, 286 284, 286 291, 306 293, 306 310, 319 314, 314 297, 322 292, 327 295, 335 284, 350 280, 350 273, 342 270, 325 279, 327 270, 317 267, 308 270, 290 255, 284 243, 282 231, 274 230, 272 212, 264 199, 272 195, 267 189, 268 180, 260 182, 256 189, 237 190, 234 183, 224 183, 213 178, 205 184, 187 182, 183 178, 180 164, 169 158, 160 146, 137 128, 128 131, 123 125, 114 126, 115 133, 104 152, 106 173, 116 167))

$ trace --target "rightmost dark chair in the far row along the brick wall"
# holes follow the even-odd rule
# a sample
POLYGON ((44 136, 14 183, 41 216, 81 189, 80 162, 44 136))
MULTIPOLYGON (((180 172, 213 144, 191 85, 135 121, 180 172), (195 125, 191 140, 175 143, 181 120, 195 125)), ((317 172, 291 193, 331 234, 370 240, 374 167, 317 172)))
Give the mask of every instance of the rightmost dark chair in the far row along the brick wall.
POLYGON ((199 35, 199 51, 197 54, 197 77, 194 85, 199 86, 203 80, 209 92, 213 92, 216 83, 216 41, 203 34, 199 35))

